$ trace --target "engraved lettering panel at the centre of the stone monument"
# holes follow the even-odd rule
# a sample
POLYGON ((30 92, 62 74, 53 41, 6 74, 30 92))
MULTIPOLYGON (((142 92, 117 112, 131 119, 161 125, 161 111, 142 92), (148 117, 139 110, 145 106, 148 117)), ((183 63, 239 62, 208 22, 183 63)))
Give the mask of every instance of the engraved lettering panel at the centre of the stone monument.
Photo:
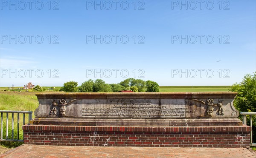
POLYGON ((108 100, 105 101, 83 101, 82 117, 122 117, 122 118, 143 118, 143 117, 185 117, 189 111, 185 105, 160 104, 159 100, 108 100), (87 103, 84 103, 87 102, 87 103), (94 103, 93 103, 94 102, 94 103))

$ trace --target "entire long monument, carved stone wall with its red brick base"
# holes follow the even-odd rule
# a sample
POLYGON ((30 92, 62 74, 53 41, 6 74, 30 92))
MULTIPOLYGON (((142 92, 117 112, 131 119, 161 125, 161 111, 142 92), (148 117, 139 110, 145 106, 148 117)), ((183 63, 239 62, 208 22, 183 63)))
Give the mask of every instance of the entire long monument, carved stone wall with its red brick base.
POLYGON ((73 146, 247 147, 236 92, 38 93, 24 143, 73 146))

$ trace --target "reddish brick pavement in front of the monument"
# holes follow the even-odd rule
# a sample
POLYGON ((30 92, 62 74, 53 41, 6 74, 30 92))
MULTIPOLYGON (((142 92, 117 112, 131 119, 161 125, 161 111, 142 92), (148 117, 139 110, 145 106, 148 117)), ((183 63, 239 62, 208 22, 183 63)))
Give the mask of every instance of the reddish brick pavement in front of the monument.
POLYGON ((256 158, 247 148, 68 147, 23 144, 5 158, 256 158))

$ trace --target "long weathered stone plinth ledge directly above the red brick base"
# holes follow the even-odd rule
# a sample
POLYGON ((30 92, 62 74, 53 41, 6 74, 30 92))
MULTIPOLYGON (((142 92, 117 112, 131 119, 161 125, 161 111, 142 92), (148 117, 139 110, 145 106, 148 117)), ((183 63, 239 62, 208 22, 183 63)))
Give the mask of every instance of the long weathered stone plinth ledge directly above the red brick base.
POLYGON ((35 118, 30 121, 35 125, 60 125, 60 126, 242 126, 238 118, 224 119, 101 119, 101 118, 35 118))

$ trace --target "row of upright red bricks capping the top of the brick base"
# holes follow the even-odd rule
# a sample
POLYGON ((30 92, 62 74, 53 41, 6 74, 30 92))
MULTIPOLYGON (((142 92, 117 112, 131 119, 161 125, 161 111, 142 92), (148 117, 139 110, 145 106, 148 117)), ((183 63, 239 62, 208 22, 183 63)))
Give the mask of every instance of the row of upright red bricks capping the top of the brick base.
POLYGON ((102 131, 102 132, 250 132, 251 127, 243 126, 196 126, 196 127, 150 127, 150 126, 56 126, 56 125, 23 125, 24 131, 33 130, 34 132, 43 131, 102 131))

